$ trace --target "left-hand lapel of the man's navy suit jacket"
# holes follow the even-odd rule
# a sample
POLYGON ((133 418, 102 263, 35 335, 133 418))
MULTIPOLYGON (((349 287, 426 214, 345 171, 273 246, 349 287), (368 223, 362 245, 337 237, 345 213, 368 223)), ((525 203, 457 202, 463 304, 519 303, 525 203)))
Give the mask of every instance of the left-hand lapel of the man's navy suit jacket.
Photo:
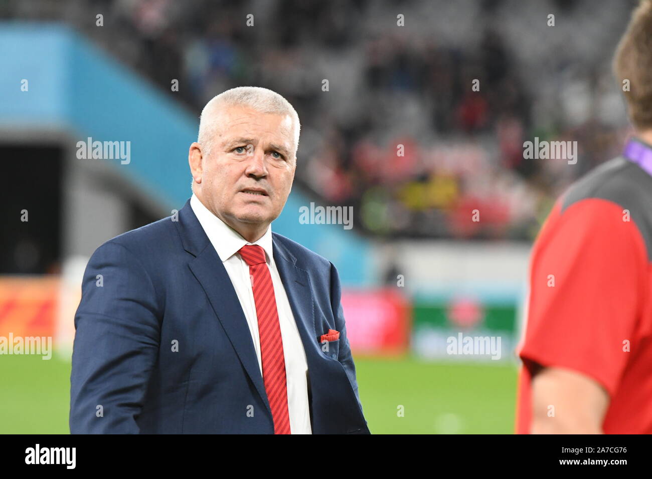
POLYGON ((244 370, 271 414, 256 350, 240 301, 222 260, 190 207, 190 200, 186 201, 186 205, 179 211, 177 229, 184 249, 195 256, 188 263, 188 267, 200 282, 244 370))

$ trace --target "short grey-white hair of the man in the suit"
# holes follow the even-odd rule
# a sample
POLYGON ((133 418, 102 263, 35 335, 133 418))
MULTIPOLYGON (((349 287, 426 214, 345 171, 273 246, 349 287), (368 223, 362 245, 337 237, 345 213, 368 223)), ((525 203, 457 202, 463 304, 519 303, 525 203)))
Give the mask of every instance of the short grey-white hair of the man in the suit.
POLYGON ((299 148, 299 133, 301 123, 294 107, 275 91, 262 87, 235 87, 224 91, 211 100, 201 110, 200 131, 197 143, 204 149, 205 154, 211 154, 213 138, 220 125, 215 113, 224 106, 246 106, 261 113, 275 113, 276 115, 289 115, 294 129, 294 151, 299 148))

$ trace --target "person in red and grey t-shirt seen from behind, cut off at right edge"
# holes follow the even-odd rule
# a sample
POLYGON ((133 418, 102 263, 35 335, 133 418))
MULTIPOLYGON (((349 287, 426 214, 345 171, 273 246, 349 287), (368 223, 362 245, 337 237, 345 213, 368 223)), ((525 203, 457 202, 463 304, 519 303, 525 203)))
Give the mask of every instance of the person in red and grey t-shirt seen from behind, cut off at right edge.
POLYGON ((614 59, 636 136, 557 200, 533 246, 516 433, 652 433, 649 38, 643 0, 614 59))

